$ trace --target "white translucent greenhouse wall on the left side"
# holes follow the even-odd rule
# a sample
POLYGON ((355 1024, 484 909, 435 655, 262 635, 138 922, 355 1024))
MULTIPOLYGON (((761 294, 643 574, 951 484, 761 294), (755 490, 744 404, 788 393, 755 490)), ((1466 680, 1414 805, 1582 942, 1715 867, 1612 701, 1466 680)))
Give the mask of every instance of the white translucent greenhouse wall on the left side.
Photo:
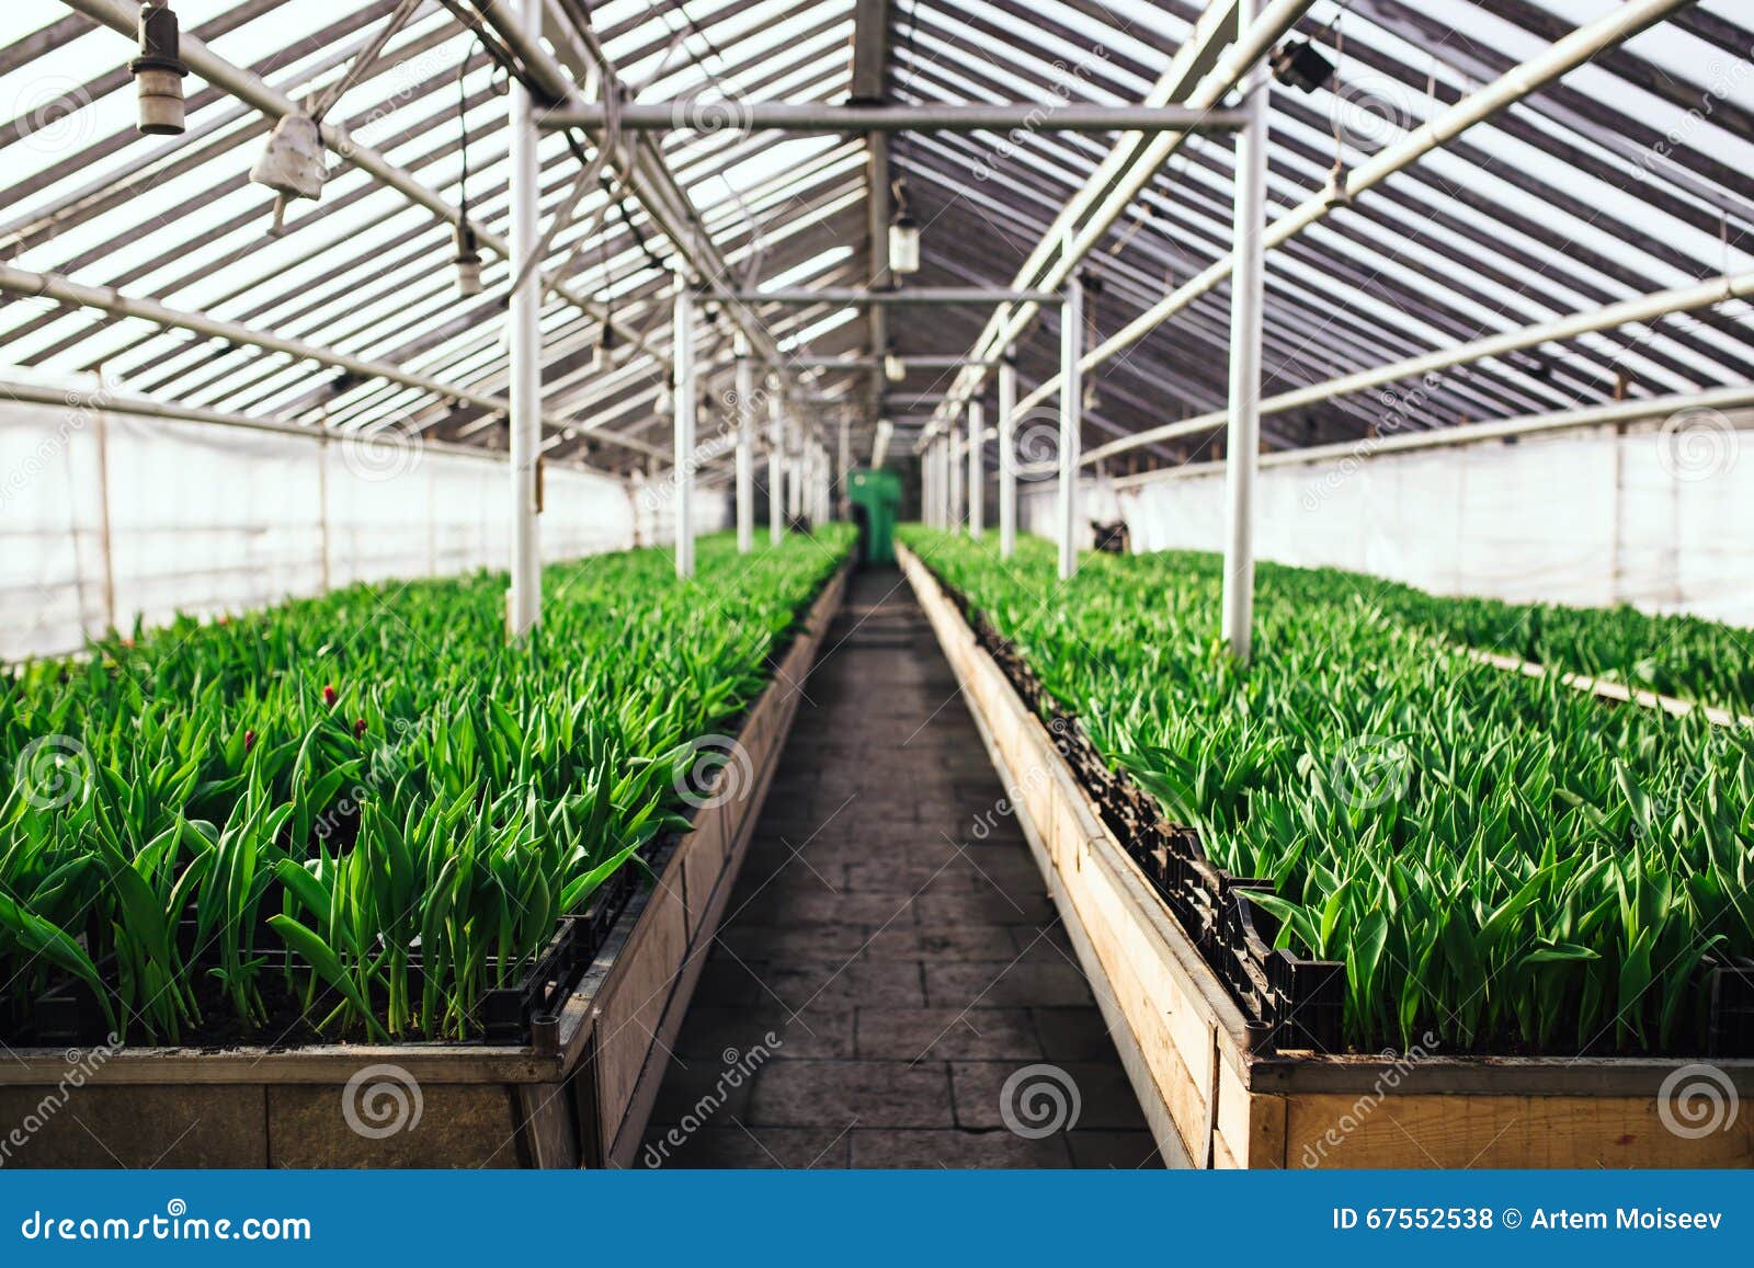
MULTIPOLYGON (((412 445, 0 403, 0 659, 75 651, 137 616, 503 568, 507 484, 503 461, 412 445)), ((635 544, 621 482, 551 467, 544 495, 544 559, 635 544)), ((724 502, 702 496, 700 531, 724 502)), ((640 519, 640 542, 674 531, 663 510, 640 519)))

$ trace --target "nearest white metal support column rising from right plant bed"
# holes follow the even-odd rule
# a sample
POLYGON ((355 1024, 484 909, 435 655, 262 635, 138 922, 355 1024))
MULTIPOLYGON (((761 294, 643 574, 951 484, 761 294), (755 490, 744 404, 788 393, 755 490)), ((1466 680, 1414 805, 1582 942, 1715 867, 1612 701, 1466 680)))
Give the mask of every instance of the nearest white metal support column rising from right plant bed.
MULTIPOLYGON (((1240 0, 1247 30, 1258 0, 1240 0)), ((1254 635, 1254 474, 1261 461, 1261 305, 1266 293, 1265 67, 1244 79, 1249 123, 1237 137, 1237 217, 1230 300, 1230 437, 1224 444, 1224 642, 1247 665, 1254 635)))

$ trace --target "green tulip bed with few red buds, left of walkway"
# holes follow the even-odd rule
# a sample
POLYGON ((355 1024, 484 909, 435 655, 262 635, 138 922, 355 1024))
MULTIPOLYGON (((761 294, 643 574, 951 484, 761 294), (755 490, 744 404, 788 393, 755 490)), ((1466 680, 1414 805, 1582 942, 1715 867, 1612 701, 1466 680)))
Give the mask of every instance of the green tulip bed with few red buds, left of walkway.
MULTIPOLYGON (((354 586, 0 677, 0 982, 68 980, 125 1042, 465 1038, 654 837, 851 535, 354 586), (274 1035, 263 1035, 274 1038, 274 1035)), ((728 740, 724 742, 728 749, 728 740)), ((5 1017, 7 1014, 0 1014, 5 1017)))

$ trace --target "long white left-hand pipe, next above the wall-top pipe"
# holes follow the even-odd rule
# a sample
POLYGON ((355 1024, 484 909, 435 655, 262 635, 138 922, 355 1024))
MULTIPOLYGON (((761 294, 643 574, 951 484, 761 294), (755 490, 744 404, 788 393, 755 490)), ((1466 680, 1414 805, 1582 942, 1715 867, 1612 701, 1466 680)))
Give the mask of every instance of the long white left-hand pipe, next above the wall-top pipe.
MULTIPOLYGON (((403 388, 428 391, 435 396, 454 400, 463 405, 474 405, 475 409, 491 410, 495 414, 503 414, 509 409, 503 396, 493 396, 484 391, 475 391, 474 388, 461 388, 458 384, 431 379, 424 374, 403 370, 402 367, 388 365, 384 361, 368 361, 360 356, 349 356, 347 353, 337 353, 335 349, 307 344, 298 338, 281 338, 279 335, 270 335, 251 326, 240 326, 235 321, 221 321, 202 312, 184 312, 181 309, 163 305, 158 300, 123 295, 109 286, 86 286, 72 281, 70 277, 61 277, 60 274, 33 274, 26 268, 0 265, 0 291, 7 291, 11 295, 44 296, 56 300, 58 303, 96 309, 118 317, 139 317, 140 321, 151 321, 154 326, 189 330, 207 338, 223 338, 230 344, 261 347, 270 353, 282 353, 305 361, 316 361, 317 365, 330 365, 337 370, 356 374, 361 379, 398 382, 403 388)), ((544 424, 551 428, 565 426, 561 419, 549 417, 544 419, 544 424)), ((658 445, 651 445, 644 440, 617 437, 609 431, 591 431, 588 435, 591 438, 609 440, 644 454, 658 458, 668 456, 658 445)))

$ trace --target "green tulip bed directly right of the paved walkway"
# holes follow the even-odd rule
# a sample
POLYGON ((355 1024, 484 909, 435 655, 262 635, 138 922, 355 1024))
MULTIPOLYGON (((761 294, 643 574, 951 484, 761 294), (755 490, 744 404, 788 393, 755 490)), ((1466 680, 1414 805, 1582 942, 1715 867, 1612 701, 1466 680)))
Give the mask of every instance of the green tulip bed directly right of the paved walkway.
POLYGON ((1263 566, 1242 670, 1210 558, 1059 584, 1044 542, 905 540, 1170 821, 1273 882, 1282 945, 1345 965, 1361 1051, 1698 1051, 1703 973, 1754 956, 1749 730, 1480 665, 1344 573, 1263 566))

